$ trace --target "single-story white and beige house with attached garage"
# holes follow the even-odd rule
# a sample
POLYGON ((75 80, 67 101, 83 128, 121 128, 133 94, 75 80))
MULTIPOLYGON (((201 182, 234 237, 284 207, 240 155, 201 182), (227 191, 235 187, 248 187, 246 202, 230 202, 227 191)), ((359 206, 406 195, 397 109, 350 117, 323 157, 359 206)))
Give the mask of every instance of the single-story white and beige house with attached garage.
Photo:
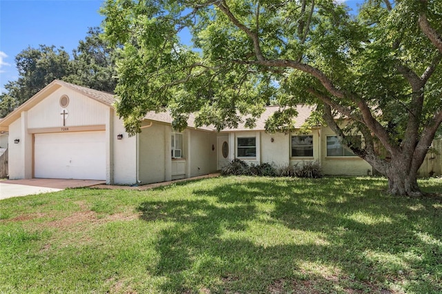
MULTIPOLYGON (((340 146, 326 127, 307 135, 265 132, 269 106, 253 130, 220 132, 188 127, 177 133, 171 116, 149 112, 142 132, 129 137, 115 113, 115 97, 64 81, 52 81, 0 121, 8 132, 9 178, 102 179, 108 184, 148 184, 220 170, 233 159, 287 166, 318 161, 327 175, 367 175, 372 167, 340 146)), ((300 127, 311 108, 297 106, 300 127)))

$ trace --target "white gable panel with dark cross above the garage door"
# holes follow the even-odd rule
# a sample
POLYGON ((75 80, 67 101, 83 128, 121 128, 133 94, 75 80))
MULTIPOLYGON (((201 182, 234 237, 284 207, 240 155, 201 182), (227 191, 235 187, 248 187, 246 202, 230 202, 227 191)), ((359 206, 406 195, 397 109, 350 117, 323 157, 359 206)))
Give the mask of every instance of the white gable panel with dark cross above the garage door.
POLYGON ((106 124, 108 106, 85 97, 84 95, 62 87, 51 93, 39 104, 28 111, 28 125, 30 128, 51 128, 63 126, 59 99, 68 95, 69 104, 66 107, 68 116, 66 126, 93 126, 106 124))

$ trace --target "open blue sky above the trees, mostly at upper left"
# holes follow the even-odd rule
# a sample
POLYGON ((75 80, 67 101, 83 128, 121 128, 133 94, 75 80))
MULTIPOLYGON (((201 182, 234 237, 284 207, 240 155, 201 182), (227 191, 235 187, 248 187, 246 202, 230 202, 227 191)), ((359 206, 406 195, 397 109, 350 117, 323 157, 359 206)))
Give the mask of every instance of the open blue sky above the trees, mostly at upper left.
MULTIPOLYGON (((335 0, 355 8, 361 0, 335 0)), ((99 26, 104 0, 0 0, 0 92, 18 79, 15 56, 29 46, 61 46, 68 53, 99 26)), ((184 41, 184 40, 183 40, 184 41)))

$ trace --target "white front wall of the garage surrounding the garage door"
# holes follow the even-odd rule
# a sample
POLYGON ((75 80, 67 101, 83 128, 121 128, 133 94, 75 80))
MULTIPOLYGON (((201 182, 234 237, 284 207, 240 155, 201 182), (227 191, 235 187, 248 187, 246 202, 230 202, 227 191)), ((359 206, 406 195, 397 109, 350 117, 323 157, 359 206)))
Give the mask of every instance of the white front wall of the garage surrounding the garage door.
POLYGON ((69 133, 75 131, 70 127, 86 126, 87 130, 106 129, 106 179, 113 179, 113 135, 114 124, 113 110, 94 99, 79 94, 70 88, 61 87, 50 92, 38 104, 27 111, 20 113, 19 119, 9 126, 9 175, 10 179, 29 179, 34 175, 33 140, 35 133, 69 133), (66 106, 66 129, 63 126, 59 99, 68 95, 69 104, 66 106), (104 126, 104 127, 102 127, 104 126), (14 144, 15 139, 20 139, 19 144, 14 144))

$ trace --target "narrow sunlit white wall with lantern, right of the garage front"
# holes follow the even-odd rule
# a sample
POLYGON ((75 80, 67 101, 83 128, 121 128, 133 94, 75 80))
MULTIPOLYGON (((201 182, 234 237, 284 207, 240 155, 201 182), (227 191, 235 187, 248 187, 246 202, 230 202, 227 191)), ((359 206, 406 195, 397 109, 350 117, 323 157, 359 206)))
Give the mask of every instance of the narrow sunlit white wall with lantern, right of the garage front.
POLYGON ((123 122, 114 114, 113 132, 113 183, 136 184, 137 170, 137 137, 129 137, 124 130, 123 122), (122 134, 122 139, 117 135, 122 134))

